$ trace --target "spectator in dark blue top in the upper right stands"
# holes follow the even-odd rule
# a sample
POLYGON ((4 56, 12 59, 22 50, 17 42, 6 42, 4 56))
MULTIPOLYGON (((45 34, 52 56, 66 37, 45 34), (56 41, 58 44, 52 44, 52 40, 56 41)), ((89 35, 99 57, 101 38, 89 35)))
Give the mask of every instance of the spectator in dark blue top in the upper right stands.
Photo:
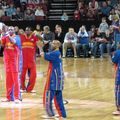
POLYGON ((103 16, 109 16, 111 7, 106 2, 102 3, 101 12, 103 16))

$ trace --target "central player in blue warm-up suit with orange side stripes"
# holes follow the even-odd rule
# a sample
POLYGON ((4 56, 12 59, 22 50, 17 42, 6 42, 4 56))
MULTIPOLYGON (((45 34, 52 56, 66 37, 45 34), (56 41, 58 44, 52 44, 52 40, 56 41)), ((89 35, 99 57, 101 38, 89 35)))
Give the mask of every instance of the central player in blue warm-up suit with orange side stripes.
POLYGON ((64 85, 64 74, 62 68, 61 53, 59 51, 60 42, 53 40, 51 43, 52 52, 41 53, 45 60, 49 61, 47 81, 43 96, 43 103, 47 115, 42 116, 44 119, 55 118, 52 101, 54 99, 55 107, 59 117, 66 118, 66 111, 63 104, 62 90, 64 85))

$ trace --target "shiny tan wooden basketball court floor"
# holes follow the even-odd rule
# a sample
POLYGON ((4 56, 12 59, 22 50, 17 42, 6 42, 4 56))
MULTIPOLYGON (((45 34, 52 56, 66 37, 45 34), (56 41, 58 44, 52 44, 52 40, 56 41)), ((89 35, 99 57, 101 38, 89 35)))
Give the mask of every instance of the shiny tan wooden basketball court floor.
MULTIPOLYGON (((45 114, 42 94, 48 62, 37 58, 36 94, 23 94, 21 105, 0 102, 0 120, 42 120, 45 114)), ((114 65, 110 58, 63 59, 65 88, 63 91, 67 120, 120 120, 113 116, 114 65), (66 104, 68 101, 68 104, 66 104)), ((26 80, 26 82, 28 79, 26 80)), ((0 99, 5 98, 5 71, 0 58, 0 99)))

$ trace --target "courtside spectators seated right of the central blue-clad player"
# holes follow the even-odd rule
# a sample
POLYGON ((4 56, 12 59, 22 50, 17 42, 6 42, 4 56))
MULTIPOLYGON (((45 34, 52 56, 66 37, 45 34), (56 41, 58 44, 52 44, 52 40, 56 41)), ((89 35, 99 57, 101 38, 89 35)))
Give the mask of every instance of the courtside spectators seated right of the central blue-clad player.
POLYGON ((76 33, 74 28, 69 28, 63 42, 63 57, 67 56, 67 50, 73 49, 74 57, 100 57, 105 53, 111 57, 120 42, 120 19, 114 16, 111 25, 108 25, 106 17, 102 17, 99 27, 91 25, 90 30, 82 25, 76 33), (119 35, 119 38, 116 36, 119 35), (117 40, 117 39, 118 40, 117 40), (76 54, 77 53, 77 54, 76 54))

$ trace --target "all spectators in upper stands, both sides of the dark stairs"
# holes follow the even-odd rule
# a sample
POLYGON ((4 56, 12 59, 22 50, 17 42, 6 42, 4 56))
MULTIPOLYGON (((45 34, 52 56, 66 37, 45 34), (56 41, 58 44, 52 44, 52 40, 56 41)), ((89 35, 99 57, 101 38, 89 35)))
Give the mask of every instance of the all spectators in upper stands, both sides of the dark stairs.
MULTIPOLYGON (((74 20, 95 20, 113 16, 120 16, 120 0, 78 0, 74 11, 74 20)), ((19 20, 44 20, 48 18, 47 0, 0 0, 0 19, 19 20)), ((61 20, 69 20, 66 12, 61 20)))

